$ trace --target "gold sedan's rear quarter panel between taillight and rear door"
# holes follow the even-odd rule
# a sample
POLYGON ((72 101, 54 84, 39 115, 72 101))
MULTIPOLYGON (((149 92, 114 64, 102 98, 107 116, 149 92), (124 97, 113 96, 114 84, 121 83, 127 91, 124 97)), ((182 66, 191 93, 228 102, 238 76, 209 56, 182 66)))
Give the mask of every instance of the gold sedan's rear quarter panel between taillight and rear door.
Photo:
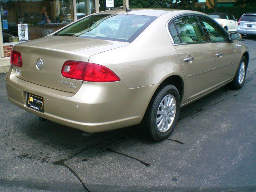
POLYGON ((110 68, 128 88, 160 84, 171 75, 184 74, 176 49, 166 31, 168 14, 157 18, 132 43, 95 54, 89 62, 110 68))

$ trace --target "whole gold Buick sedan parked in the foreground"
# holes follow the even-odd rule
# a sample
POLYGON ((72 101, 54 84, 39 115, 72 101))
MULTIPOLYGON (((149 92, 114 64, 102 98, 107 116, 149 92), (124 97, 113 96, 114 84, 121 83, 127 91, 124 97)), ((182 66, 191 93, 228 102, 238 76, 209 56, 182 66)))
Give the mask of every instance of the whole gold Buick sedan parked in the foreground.
POLYGON ((88 133, 139 125, 164 140, 182 106, 243 86, 249 53, 240 38, 200 12, 99 12, 14 45, 8 99, 88 133))

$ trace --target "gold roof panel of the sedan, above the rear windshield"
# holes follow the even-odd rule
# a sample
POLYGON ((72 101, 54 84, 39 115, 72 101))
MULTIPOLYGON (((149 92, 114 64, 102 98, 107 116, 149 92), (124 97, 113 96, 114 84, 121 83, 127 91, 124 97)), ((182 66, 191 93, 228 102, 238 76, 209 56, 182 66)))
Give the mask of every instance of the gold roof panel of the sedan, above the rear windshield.
POLYGON ((188 11, 188 10, 178 10, 178 9, 158 9, 158 8, 146 8, 146 9, 132 9, 129 12, 126 12, 123 9, 119 10, 107 10, 107 11, 101 11, 96 14, 130 14, 130 15, 144 15, 144 16, 155 16, 159 17, 162 14, 168 13, 168 12, 175 12, 175 14, 182 14, 182 13, 197 13, 197 14, 202 14, 205 15, 202 12, 196 12, 196 11, 188 11), (176 13, 178 12, 178 13, 176 13))

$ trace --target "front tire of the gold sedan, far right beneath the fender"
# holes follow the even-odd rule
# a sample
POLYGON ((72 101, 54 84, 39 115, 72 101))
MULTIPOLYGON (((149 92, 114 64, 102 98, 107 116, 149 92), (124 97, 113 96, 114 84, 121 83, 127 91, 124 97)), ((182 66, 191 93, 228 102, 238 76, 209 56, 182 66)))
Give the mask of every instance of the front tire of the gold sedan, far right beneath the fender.
POLYGON ((247 71, 247 60, 246 60, 245 56, 242 56, 240 64, 236 70, 236 75, 235 75, 233 81, 230 83, 232 88, 234 88, 234 89, 242 88, 242 86, 244 85, 245 78, 246 78, 246 71, 247 71), (243 68, 243 65, 244 65, 244 70, 242 70, 242 71, 244 73, 244 76, 243 76, 243 73, 242 74, 240 73, 240 69, 243 68), (242 78, 241 75, 244 78, 242 78), (240 79, 240 78, 242 78, 242 79, 240 79))

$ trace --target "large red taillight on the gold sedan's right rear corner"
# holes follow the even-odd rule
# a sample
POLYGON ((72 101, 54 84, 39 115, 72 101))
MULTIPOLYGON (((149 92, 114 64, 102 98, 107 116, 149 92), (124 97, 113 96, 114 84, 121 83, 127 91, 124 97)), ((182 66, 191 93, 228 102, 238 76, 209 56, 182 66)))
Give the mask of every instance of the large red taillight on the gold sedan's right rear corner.
POLYGON ((62 76, 90 82, 114 82, 120 79, 110 69, 93 63, 66 61, 61 69, 62 76))

